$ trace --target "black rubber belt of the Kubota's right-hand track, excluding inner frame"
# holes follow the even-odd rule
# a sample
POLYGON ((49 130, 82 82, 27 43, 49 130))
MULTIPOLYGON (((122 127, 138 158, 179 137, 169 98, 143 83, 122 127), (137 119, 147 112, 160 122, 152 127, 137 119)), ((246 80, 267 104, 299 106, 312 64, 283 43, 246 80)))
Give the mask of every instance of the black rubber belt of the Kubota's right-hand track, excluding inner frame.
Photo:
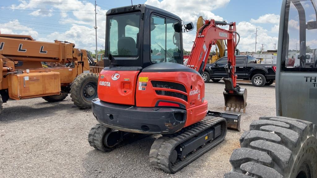
POLYGON ((175 134, 164 135, 163 137, 155 140, 150 150, 150 163, 154 168, 164 170, 165 172, 171 174, 176 173, 178 170, 222 142, 226 136, 226 132, 227 123, 224 118, 206 116, 202 121, 186 127, 175 134), (184 160, 177 159, 174 164, 171 164, 170 155, 176 146, 218 123, 222 124, 222 134, 220 136, 218 136, 215 140, 206 143, 204 147, 199 147, 196 152, 188 154, 184 160))

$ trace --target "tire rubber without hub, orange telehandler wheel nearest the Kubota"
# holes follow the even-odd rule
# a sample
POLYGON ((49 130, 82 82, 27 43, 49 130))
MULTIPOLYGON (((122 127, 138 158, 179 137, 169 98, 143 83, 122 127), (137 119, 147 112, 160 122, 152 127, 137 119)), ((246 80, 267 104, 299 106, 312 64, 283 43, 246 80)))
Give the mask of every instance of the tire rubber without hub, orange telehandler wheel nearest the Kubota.
MULTIPOLYGON (((71 83, 70 86, 70 98, 72 98, 72 101, 74 102, 74 105, 78 106, 81 109, 88 109, 91 108, 91 104, 87 104, 85 99, 83 99, 81 87, 83 85, 83 81, 87 77, 93 77, 97 80, 97 86, 98 86, 98 76, 94 73, 81 73, 75 77, 74 81, 71 83)), ((97 91, 96 91, 97 92, 97 91)))

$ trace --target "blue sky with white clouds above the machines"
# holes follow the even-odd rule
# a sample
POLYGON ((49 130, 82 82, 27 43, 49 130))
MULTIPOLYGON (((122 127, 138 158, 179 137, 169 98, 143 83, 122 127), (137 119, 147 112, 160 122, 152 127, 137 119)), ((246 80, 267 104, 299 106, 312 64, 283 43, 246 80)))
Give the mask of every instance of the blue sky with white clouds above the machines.
MULTIPOLYGON (((239 49, 255 50, 255 31, 258 28, 257 50, 277 46, 281 0, 133 0, 133 4, 147 3, 171 11, 183 21, 196 23, 199 15, 205 19, 235 21, 241 35, 239 49)), ((0 6, 1 33, 31 35, 38 41, 70 41, 76 47, 93 51, 93 0, 10 0, 0 6), (85 5, 80 5, 85 4, 85 5), (18 6, 18 8, 17 8, 18 6), (16 10, 12 10, 16 9, 16 10), (61 13, 63 12, 63 13, 61 13)), ((131 5, 130 0, 97 0, 98 49, 104 45, 105 13, 108 9, 131 5)), ((191 49, 195 33, 184 35, 184 48, 191 49)))

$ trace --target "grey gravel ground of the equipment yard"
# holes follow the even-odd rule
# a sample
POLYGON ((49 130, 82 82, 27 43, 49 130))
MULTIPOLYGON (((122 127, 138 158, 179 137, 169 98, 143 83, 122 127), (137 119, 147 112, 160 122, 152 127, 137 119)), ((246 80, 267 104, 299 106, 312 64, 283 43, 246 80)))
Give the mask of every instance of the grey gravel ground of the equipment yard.
MULTIPOLYGON (((155 137, 146 137, 110 153, 89 146, 97 124, 91 110, 80 110, 67 97, 48 103, 42 98, 10 100, 0 114, 0 177, 223 177, 243 131, 263 115, 275 115, 275 86, 248 89, 241 131, 229 130, 225 140, 174 175, 154 169, 149 151, 155 137)), ((206 84, 209 109, 223 111, 224 83, 206 84)))

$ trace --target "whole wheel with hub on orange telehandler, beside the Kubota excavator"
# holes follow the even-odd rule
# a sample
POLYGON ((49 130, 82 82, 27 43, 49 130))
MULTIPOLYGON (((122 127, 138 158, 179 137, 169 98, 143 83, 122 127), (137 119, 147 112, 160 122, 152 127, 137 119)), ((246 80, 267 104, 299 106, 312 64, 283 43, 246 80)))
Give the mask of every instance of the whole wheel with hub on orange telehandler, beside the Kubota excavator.
POLYGON ((98 76, 94 73, 79 74, 70 86, 70 97, 81 109, 91 108, 91 101, 98 98, 98 76))

